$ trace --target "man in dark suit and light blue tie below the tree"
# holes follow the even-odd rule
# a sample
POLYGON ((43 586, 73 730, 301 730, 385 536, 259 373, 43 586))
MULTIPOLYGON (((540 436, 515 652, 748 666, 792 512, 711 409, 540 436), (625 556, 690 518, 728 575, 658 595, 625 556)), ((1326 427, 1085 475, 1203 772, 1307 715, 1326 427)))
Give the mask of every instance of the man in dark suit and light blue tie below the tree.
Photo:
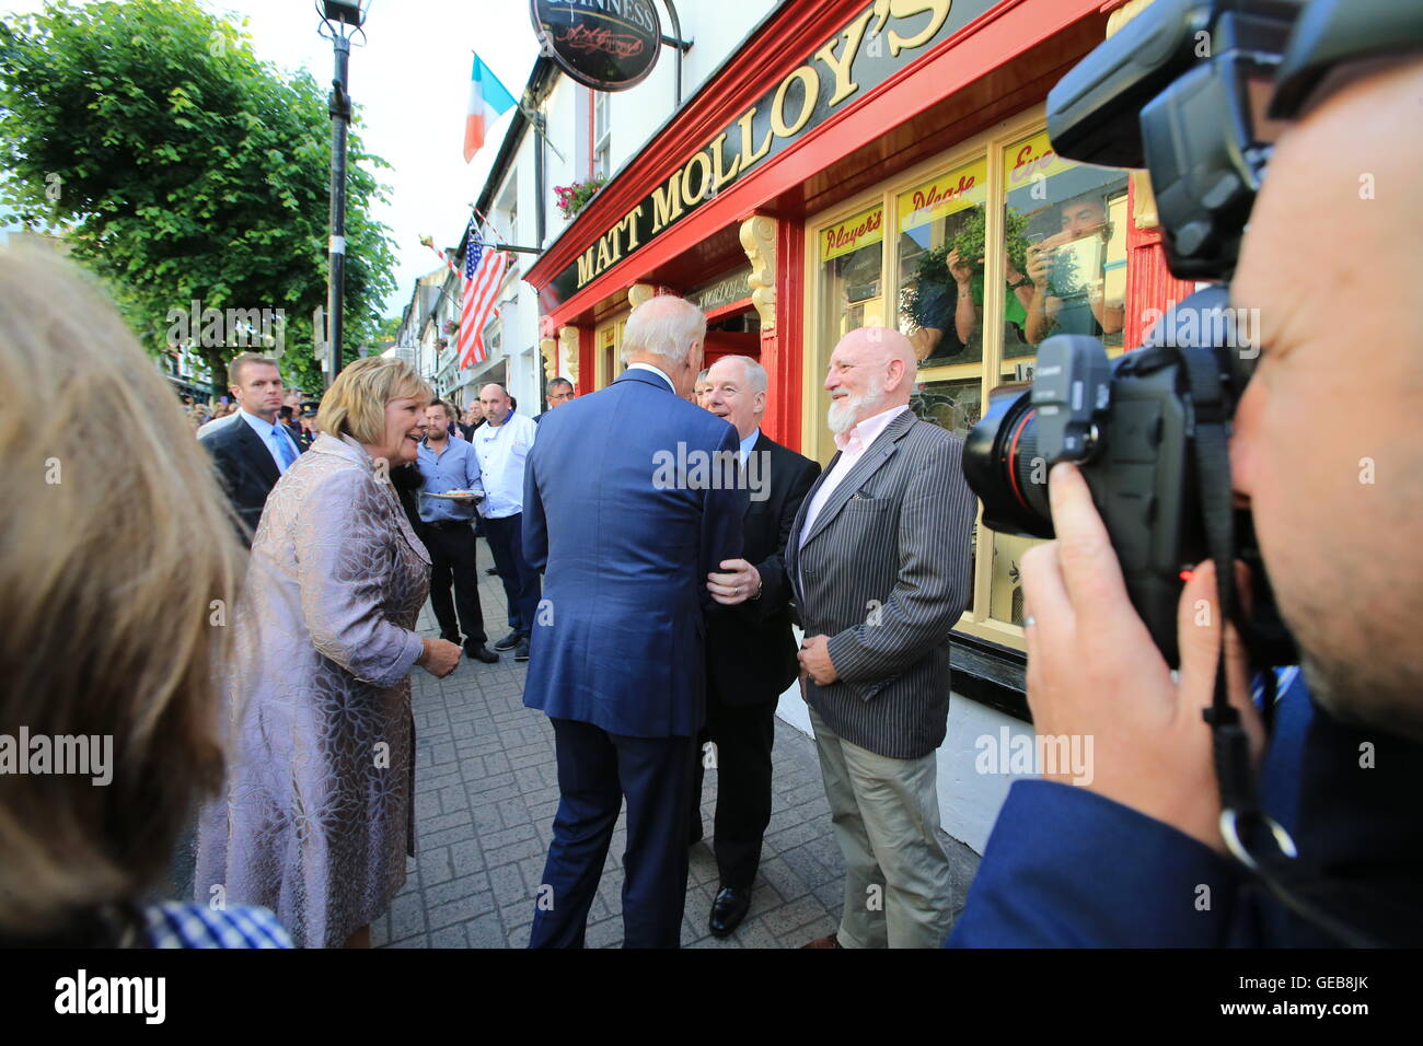
POLYGON ((228 364, 228 384, 238 401, 235 420, 198 443, 212 454, 222 487, 242 519, 242 542, 250 546, 268 494, 300 457, 302 447, 277 420, 282 373, 276 360, 240 353, 228 364))

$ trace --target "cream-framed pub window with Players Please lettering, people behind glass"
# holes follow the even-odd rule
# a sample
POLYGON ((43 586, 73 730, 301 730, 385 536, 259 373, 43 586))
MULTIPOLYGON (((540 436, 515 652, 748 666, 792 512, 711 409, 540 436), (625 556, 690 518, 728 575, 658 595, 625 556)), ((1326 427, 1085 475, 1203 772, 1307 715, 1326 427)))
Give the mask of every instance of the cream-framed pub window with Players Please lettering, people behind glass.
MULTIPOLYGON (((817 383, 841 336, 895 326, 918 359, 911 410, 962 438, 993 389, 1032 379, 1044 337, 1090 334, 1121 353, 1127 175, 1064 161, 1026 127, 966 142, 978 151, 953 167, 912 172, 814 228, 817 383)), ((825 461, 822 417, 807 413, 807 445, 825 461)), ((1036 542, 975 524, 970 544, 980 598, 959 628, 1020 646, 1020 564, 1036 542)))

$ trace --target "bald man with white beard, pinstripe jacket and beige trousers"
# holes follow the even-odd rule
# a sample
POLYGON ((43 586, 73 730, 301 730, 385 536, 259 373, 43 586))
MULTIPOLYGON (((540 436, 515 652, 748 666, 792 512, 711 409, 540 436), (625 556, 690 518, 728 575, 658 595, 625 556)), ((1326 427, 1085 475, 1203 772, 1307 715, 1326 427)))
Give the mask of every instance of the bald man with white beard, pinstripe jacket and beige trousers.
POLYGON ((838 453, 785 544, 801 693, 847 868, 840 929, 807 948, 935 948, 952 915, 935 750, 975 501, 962 441, 911 413, 914 381, 899 332, 840 340, 825 377, 838 453))

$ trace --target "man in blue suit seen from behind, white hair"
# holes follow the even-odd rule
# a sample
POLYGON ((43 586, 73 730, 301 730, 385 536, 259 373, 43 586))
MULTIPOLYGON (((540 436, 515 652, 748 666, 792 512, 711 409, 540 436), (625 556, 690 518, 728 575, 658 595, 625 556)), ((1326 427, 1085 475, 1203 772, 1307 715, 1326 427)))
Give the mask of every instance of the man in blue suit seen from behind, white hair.
POLYGON ((707 576, 741 555, 736 428, 686 398, 706 319, 633 310, 629 369, 551 413, 524 481, 524 554, 546 575, 524 703, 554 722, 561 801, 531 948, 581 948, 622 800, 623 944, 676 948, 706 717, 707 576))

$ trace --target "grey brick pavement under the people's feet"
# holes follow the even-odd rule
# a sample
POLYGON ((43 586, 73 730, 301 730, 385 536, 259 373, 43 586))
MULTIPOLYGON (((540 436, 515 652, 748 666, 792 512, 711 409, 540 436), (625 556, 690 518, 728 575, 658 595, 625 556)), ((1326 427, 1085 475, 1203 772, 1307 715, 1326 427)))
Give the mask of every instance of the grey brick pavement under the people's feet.
MULTIPOLYGON (((480 542, 480 592, 490 640, 508 628, 504 589, 485 575, 488 545, 480 542)), ((421 632, 438 635, 428 603, 421 632)), ((554 730, 522 704, 527 665, 502 653, 498 665, 461 660, 445 679, 413 675, 416 716, 416 844, 418 857, 390 912, 371 926, 387 948, 524 948, 542 881, 558 778, 554 730)), ((707 838, 692 847, 682 944, 693 948, 794 948, 835 929, 844 862, 831 834, 815 746, 776 722, 774 801, 751 914, 729 938, 707 931, 717 889, 710 830, 716 771, 706 774, 707 838)), ((619 817, 598 897, 588 946, 622 944, 622 851, 619 817)), ((953 868, 955 907, 963 904, 976 855, 942 837, 953 868)))

